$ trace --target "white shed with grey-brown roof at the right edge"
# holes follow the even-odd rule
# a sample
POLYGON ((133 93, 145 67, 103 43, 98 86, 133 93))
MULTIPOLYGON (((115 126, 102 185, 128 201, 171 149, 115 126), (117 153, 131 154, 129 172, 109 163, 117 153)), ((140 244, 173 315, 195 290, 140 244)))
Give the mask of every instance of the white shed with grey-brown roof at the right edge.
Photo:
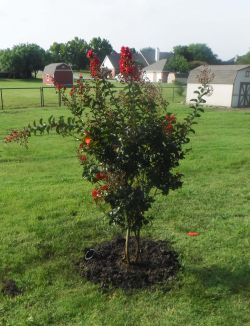
MULTIPOLYGON (((195 98, 199 86, 198 77, 203 66, 191 70, 187 81, 186 102, 195 98)), ((206 105, 250 108, 250 65, 212 65, 208 69, 214 78, 211 94, 206 96, 206 105)))

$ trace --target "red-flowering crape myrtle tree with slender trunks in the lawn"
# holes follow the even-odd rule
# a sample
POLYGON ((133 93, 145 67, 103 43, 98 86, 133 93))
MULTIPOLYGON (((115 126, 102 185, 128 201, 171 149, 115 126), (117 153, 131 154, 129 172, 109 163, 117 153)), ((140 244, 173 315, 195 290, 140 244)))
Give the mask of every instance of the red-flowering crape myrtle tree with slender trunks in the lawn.
POLYGON ((205 102, 206 74, 192 109, 179 121, 167 111, 168 103, 158 87, 143 81, 128 47, 121 48, 124 87, 119 91, 103 77, 93 50, 87 56, 92 81, 79 80, 69 93, 57 85, 72 117, 41 119, 13 131, 5 141, 25 144, 32 134, 52 130, 74 136, 79 141, 82 176, 94 185, 90 195, 95 203, 108 204, 110 223, 126 234, 124 259, 127 264, 135 263, 140 259, 140 232, 152 219, 148 211, 155 195, 166 196, 182 185, 176 168, 185 157, 188 135, 205 102), (131 248, 132 237, 136 248, 131 248))

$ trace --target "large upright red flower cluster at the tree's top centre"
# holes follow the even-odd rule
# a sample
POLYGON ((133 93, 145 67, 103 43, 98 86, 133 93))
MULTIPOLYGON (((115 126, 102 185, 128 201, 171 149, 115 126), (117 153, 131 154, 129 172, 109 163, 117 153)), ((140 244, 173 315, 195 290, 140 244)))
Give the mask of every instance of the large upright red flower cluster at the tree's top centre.
POLYGON ((120 73, 125 81, 139 81, 141 73, 133 61, 132 52, 129 47, 122 46, 120 54, 120 73))

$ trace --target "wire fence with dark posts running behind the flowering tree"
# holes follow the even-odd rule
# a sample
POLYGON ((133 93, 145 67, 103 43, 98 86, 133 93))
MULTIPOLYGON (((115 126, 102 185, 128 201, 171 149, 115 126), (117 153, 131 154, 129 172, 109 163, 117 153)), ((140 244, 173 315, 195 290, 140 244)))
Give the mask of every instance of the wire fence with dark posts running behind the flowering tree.
MULTIPOLYGON (((186 86, 160 85, 164 98, 170 103, 185 100, 186 86)), ((122 88, 116 86, 117 89, 122 88)), ((0 109, 57 107, 62 105, 60 92, 54 87, 2 87, 0 88, 0 109)))

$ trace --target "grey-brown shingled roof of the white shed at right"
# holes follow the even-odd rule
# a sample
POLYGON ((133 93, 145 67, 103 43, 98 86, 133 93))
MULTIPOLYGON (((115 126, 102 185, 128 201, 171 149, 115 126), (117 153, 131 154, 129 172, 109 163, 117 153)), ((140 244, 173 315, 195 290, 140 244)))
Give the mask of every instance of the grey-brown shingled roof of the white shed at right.
MULTIPOLYGON (((238 71, 249 68, 250 65, 211 65, 208 66, 209 71, 214 74, 212 84, 233 84, 238 71)), ((199 84, 198 75, 204 69, 199 66, 190 71, 188 76, 189 84, 199 84)))

